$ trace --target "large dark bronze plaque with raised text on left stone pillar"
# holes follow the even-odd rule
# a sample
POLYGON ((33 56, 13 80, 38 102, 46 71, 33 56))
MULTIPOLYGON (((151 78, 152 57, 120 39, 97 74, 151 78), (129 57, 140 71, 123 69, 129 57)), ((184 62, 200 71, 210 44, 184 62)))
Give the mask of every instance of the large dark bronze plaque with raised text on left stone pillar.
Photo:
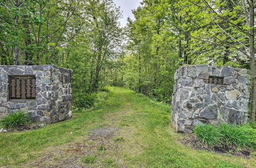
POLYGON ((10 75, 9 98, 10 100, 35 100, 35 75, 10 75))

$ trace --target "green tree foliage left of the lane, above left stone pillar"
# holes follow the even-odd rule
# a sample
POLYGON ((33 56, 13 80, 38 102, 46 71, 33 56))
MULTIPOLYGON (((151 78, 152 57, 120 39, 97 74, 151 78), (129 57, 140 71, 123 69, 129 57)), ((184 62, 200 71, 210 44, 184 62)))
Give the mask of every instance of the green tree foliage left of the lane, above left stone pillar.
POLYGON ((90 108, 98 88, 116 83, 121 64, 116 60, 123 54, 120 17, 113 0, 4 1, 0 3, 0 64, 13 65, 15 52, 18 65, 70 68, 73 105, 90 108))

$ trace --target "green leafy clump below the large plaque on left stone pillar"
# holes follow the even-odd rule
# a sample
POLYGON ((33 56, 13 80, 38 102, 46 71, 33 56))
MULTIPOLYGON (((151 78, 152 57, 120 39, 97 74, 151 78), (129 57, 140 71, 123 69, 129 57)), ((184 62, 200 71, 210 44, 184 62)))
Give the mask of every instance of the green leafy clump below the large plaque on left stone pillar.
POLYGON ((16 128, 28 124, 29 121, 30 117, 28 114, 23 111, 18 111, 17 113, 12 113, 9 116, 3 117, 0 123, 4 128, 16 128))

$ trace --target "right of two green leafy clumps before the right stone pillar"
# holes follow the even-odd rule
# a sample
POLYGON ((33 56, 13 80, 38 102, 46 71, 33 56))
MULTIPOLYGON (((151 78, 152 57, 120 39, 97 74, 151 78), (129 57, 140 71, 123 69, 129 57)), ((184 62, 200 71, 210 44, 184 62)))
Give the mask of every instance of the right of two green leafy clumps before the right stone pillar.
POLYGON ((251 147, 251 136, 247 134, 239 126, 229 124, 221 124, 220 132, 223 135, 222 139, 226 145, 234 145, 236 147, 251 147))

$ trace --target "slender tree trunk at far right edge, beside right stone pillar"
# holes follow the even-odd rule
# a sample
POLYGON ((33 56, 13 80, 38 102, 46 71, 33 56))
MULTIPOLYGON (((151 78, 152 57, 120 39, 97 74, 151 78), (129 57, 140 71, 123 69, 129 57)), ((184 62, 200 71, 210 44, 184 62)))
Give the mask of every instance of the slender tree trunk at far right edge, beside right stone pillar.
POLYGON ((255 53, 254 53, 254 3, 250 0, 249 4, 249 22, 250 22, 250 66, 251 66, 251 101, 250 101, 250 121, 255 122, 255 103, 256 103, 256 70, 255 70, 255 53))

